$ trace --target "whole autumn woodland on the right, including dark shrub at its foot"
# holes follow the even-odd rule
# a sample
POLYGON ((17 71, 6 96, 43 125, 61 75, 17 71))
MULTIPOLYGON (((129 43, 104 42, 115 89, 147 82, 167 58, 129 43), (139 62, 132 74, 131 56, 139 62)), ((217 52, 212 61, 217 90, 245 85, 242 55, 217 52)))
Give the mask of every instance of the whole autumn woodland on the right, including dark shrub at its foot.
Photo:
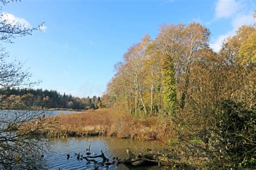
POLYGON ((214 52, 201 24, 164 24, 114 66, 103 103, 165 117, 164 136, 180 153, 217 167, 255 167, 255 26, 241 26, 214 52))

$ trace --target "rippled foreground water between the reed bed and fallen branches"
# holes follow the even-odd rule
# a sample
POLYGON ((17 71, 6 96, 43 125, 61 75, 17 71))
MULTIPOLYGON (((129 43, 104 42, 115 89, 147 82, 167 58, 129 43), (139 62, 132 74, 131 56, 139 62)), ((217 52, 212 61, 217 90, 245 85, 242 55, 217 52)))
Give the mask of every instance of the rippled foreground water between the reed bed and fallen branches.
MULTIPOLYGON (((51 151, 45 155, 46 168, 47 169, 93 169, 95 164, 93 162, 87 162, 86 160, 77 160, 77 156, 74 153, 80 153, 85 156, 86 148, 91 141, 91 153, 100 154, 103 151, 105 157, 110 159, 113 157, 128 158, 125 151, 127 147, 134 154, 138 154, 142 151, 147 153, 147 148, 153 148, 154 151, 161 150, 161 145, 157 141, 137 141, 132 139, 119 139, 111 137, 89 137, 89 138, 68 138, 68 139, 55 139, 51 146, 51 151), (66 155, 70 154, 70 158, 67 159, 66 155)), ((95 160, 101 161, 101 158, 95 160)), ((99 165, 97 165, 99 166, 99 165)), ((110 165, 99 166, 99 169, 134 169, 134 167, 126 167, 125 165, 110 165)), ((140 167, 139 169, 159 169, 159 167, 140 167)))

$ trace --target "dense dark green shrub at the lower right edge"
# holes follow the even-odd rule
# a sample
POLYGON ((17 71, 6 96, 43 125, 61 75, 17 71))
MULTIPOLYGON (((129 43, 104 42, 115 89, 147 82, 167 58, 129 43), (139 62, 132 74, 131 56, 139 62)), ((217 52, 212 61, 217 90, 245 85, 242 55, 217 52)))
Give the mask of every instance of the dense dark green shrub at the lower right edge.
POLYGON ((232 100, 220 103, 212 137, 215 162, 229 167, 256 167, 255 118, 255 109, 246 109, 232 100))

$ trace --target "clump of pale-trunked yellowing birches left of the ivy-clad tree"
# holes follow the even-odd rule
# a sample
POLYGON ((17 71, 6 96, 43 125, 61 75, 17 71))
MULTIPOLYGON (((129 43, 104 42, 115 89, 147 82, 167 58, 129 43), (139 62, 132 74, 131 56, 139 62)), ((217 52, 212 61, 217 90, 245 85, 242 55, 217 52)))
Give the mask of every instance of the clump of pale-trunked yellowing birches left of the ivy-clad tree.
POLYGON ((147 72, 143 68, 148 59, 145 50, 150 41, 150 37, 146 35, 128 49, 124 54, 124 61, 115 66, 117 73, 107 88, 107 95, 115 104, 134 114, 143 111, 147 115, 149 112, 149 103, 146 100, 146 84, 149 82, 146 79, 147 72))

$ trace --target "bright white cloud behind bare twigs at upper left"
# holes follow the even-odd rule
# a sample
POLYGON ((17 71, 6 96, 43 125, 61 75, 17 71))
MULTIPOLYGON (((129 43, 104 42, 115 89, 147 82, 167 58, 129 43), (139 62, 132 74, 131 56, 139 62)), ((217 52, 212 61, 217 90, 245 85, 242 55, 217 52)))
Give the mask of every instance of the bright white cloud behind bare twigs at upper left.
POLYGON ((10 24, 11 26, 24 26, 25 28, 30 28, 30 23, 25 20, 24 18, 18 18, 11 13, 3 12, 0 16, 0 21, 4 22, 5 24, 10 24))

